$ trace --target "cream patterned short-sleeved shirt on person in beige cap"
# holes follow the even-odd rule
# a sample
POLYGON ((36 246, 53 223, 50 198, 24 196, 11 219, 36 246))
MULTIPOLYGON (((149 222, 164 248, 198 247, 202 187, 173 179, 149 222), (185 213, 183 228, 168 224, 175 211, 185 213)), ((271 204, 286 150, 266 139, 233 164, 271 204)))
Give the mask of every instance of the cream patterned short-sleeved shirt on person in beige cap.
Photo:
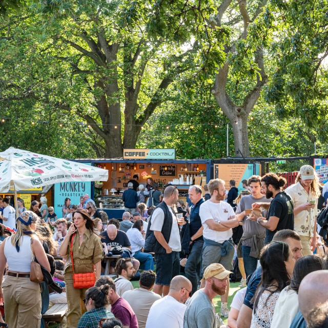
POLYGON ((297 208, 306 202, 310 202, 311 200, 315 201, 315 207, 313 209, 301 211, 297 215, 294 215, 294 230, 301 236, 313 237, 314 222, 318 212, 318 199, 313 195, 311 188, 310 193, 308 194, 300 182, 288 187, 285 192, 292 197, 294 208, 297 208))

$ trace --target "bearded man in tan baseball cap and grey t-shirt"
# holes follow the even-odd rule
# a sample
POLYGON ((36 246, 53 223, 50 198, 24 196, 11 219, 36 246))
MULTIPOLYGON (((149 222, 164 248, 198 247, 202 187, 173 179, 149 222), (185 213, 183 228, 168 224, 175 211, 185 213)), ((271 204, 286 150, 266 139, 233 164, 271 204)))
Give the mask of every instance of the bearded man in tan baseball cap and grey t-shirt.
POLYGON ((230 273, 219 263, 210 264, 206 268, 203 275, 205 287, 190 299, 183 318, 183 328, 217 327, 212 300, 217 295, 226 294, 230 273))

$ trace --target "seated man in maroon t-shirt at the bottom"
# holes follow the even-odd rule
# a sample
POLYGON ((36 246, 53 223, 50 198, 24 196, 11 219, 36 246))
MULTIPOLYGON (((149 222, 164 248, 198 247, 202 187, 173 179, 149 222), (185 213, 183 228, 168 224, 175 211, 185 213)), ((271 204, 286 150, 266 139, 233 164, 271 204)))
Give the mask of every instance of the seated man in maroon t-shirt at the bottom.
POLYGON ((130 304, 116 293, 115 282, 109 276, 101 276, 96 283, 95 287, 109 284, 110 291, 108 294, 109 303, 112 305, 111 312, 116 319, 119 319, 123 328, 138 328, 138 321, 135 313, 133 312, 130 304))

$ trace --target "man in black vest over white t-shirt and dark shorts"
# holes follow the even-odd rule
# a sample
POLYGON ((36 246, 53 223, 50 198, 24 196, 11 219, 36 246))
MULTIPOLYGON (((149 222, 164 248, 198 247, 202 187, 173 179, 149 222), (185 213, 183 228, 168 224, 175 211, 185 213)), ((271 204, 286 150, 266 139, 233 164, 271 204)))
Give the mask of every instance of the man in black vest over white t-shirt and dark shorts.
POLYGON ((179 252, 181 239, 178 222, 172 209, 178 201, 179 192, 175 186, 168 186, 163 193, 163 201, 154 209, 149 220, 145 250, 155 253, 156 281, 154 293, 166 296, 170 282, 180 273, 179 252))

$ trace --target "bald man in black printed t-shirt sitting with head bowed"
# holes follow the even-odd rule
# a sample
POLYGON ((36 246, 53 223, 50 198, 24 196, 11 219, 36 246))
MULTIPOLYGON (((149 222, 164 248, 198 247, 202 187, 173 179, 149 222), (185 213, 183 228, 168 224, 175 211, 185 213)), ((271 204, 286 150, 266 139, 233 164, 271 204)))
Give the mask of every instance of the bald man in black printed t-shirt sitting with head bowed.
MULTIPOLYGON (((101 241, 106 243, 108 251, 111 251, 112 248, 116 246, 126 247, 131 251, 131 243, 127 234, 124 231, 117 230, 114 224, 109 224, 107 226, 106 231, 102 232, 100 236, 104 237, 101 239, 101 241)), ((128 251, 123 252, 122 258, 125 257, 130 257, 128 251)), ((106 267, 105 261, 101 262, 101 265, 103 265, 103 267, 104 266, 106 267)), ((115 265, 116 265, 116 261, 111 261, 109 273, 115 272, 115 265)))

